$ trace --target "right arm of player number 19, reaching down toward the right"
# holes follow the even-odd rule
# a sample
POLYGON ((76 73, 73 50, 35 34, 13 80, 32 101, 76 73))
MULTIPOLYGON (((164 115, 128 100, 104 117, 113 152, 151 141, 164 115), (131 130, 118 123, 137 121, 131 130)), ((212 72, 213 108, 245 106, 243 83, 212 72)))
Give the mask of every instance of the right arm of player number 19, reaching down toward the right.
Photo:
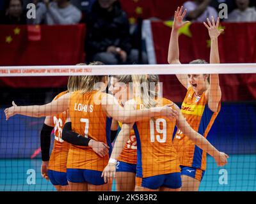
POLYGON ((209 143, 208 140, 206 140, 206 138, 204 138, 204 136, 200 135, 193 128, 191 128, 188 122, 186 121, 186 119, 184 119, 179 109, 179 106, 175 105, 175 108, 179 110, 179 119, 177 120, 177 128, 179 128, 180 131, 184 133, 184 135, 188 136, 192 142, 194 142, 198 147, 200 147, 200 149, 204 150, 205 152, 210 154, 212 157, 214 157, 218 166, 225 165, 227 163, 227 158, 228 158, 227 154, 223 152, 219 152, 215 147, 211 145, 211 143, 209 143))

